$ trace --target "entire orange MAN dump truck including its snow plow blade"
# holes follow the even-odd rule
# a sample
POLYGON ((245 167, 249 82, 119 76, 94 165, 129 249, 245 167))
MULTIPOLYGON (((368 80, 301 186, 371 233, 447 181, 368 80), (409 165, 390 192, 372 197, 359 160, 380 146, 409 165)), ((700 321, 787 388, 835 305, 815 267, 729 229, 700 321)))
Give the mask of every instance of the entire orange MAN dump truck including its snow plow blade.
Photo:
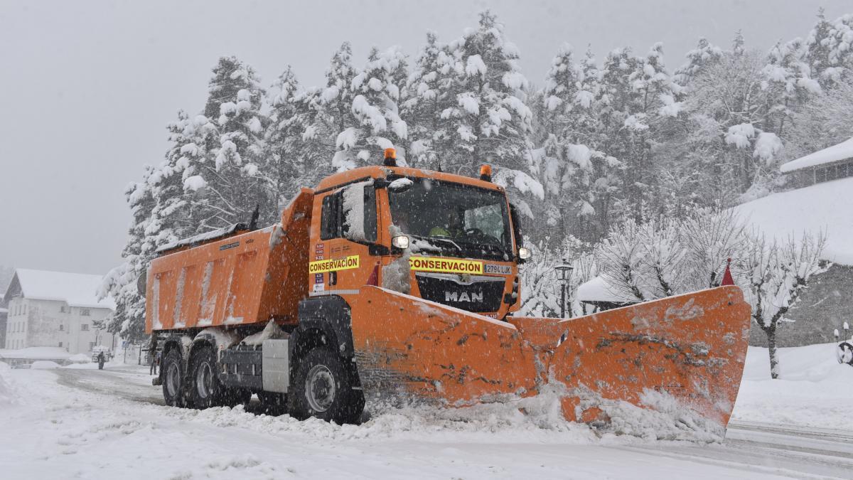
POLYGON ((735 286, 577 319, 518 311, 515 209, 479 179, 385 164, 303 189, 281 222, 165 245, 146 327, 167 404, 252 393, 299 418, 554 395, 569 420, 625 412, 725 428, 750 308, 735 286))

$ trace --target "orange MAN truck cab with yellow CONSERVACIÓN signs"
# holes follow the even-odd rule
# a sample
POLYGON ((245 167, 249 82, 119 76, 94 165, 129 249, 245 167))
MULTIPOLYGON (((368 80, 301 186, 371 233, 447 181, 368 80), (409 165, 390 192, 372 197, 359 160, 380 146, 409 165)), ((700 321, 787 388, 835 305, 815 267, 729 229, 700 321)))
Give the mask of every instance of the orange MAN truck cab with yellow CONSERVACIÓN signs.
POLYGON ((506 192, 489 177, 375 166, 323 179, 311 214, 309 296, 346 299, 373 284, 494 319, 517 311, 518 264, 530 252, 506 192))

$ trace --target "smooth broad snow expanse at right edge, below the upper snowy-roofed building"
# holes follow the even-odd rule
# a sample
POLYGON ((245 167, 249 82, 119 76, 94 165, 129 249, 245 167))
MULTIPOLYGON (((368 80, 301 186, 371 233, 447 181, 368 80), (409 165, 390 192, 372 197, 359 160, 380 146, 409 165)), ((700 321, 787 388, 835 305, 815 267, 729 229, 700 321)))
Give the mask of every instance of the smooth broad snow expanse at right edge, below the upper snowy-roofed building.
POLYGON ((853 266, 853 178, 774 193, 734 210, 748 225, 780 241, 824 231, 827 245, 821 257, 853 266))

